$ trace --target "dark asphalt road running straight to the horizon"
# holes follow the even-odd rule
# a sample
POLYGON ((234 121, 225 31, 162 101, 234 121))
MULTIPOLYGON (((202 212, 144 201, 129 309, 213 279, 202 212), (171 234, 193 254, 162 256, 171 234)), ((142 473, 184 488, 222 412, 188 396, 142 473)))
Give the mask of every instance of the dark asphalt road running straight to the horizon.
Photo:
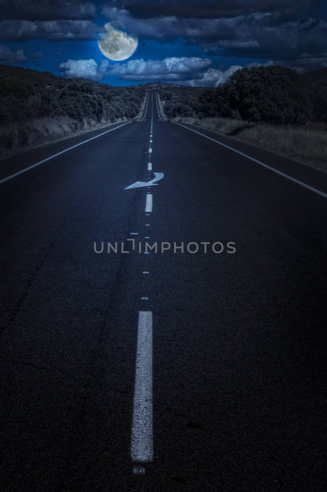
POLYGON ((327 176, 156 103, 0 163, 97 137, 0 184, 0 490, 324 491, 327 176))

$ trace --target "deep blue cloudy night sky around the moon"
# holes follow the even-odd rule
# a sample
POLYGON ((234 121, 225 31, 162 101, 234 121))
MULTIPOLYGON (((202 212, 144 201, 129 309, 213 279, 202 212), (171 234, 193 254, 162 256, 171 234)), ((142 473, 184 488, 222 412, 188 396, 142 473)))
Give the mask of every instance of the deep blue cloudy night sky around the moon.
POLYGON ((209 87, 243 66, 327 67, 322 0, 0 0, 0 19, 0 63, 110 85, 209 87), (136 51, 121 62, 98 48, 112 20, 138 35, 136 51))

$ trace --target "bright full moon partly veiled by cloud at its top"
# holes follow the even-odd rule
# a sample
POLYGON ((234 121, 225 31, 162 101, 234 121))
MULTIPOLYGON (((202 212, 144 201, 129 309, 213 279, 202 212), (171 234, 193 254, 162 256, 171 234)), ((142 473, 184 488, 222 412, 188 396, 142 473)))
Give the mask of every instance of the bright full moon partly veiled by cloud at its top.
POLYGON ((116 62, 130 58, 137 48, 137 34, 125 32, 119 21, 108 22, 104 27, 106 32, 101 32, 98 39, 101 53, 116 62))

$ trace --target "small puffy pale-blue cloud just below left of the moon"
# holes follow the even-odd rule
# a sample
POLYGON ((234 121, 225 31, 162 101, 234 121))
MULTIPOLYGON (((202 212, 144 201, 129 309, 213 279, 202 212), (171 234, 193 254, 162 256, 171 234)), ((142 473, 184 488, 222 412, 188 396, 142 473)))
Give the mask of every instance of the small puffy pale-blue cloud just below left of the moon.
POLYGON ((62 77, 82 77, 91 80, 102 80, 108 75, 108 60, 102 60, 101 64, 90 58, 90 60, 67 60, 65 63, 60 63, 62 77))

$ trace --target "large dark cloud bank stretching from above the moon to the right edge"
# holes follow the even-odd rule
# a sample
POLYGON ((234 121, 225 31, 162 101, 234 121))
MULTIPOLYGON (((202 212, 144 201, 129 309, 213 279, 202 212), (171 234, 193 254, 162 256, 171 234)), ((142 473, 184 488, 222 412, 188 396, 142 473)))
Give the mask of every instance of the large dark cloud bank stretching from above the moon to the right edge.
MULTIPOLYGON (((312 16, 322 1, 234 0, 218 2, 111 1, 102 7, 108 20, 120 20, 140 37, 200 45, 205 56, 280 59, 292 64, 303 53, 324 66, 327 23, 312 16), (282 54, 282 55, 281 55, 282 54), (319 59, 322 58, 321 62, 319 59)), ((296 65, 297 66, 297 65, 296 65)))

